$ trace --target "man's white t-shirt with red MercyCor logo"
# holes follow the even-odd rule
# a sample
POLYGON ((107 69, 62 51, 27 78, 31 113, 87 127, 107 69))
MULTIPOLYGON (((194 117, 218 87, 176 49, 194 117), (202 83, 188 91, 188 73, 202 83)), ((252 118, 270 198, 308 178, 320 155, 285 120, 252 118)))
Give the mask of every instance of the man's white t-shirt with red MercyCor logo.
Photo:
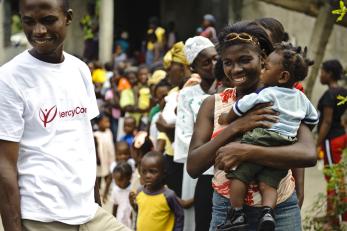
POLYGON ((98 115, 88 67, 64 53, 59 64, 24 51, 0 68, 0 139, 19 142, 23 219, 83 224, 94 202, 98 115))

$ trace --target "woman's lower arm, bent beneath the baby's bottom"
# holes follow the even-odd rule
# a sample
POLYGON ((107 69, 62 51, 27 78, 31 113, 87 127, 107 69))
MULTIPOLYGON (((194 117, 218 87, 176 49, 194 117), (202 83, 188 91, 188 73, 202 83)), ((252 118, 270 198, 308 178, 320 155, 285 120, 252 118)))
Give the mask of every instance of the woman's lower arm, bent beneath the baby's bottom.
POLYGON ((298 141, 292 145, 263 147, 232 142, 217 151, 216 164, 222 170, 227 171, 243 161, 281 169, 314 166, 317 156, 312 133, 301 124, 298 141))

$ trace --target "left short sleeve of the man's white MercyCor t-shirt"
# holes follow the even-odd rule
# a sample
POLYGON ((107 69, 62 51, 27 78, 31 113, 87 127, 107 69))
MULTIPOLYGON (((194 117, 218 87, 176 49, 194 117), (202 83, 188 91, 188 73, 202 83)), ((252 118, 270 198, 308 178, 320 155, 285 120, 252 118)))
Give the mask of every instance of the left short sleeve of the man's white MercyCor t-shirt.
POLYGON ((19 142, 24 132, 24 100, 4 80, 0 80, 0 98, 0 139, 19 142))

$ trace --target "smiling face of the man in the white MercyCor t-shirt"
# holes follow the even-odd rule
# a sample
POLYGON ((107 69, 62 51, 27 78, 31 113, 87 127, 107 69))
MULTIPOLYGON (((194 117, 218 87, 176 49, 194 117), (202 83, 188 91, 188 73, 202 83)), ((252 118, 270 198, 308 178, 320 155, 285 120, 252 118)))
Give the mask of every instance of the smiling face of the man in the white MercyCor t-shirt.
POLYGON ((72 10, 64 12, 62 4, 62 0, 21 0, 24 33, 33 55, 43 61, 62 56, 66 29, 72 19, 72 10))

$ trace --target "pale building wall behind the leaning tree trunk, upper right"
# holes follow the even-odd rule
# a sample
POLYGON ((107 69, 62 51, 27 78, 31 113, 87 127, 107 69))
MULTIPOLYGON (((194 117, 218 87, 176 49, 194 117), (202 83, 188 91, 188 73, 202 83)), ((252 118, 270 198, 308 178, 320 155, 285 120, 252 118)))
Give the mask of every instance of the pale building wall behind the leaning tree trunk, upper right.
MULTIPOLYGON (((302 13, 289 11, 281 7, 256 0, 244 0, 242 19, 256 19, 261 17, 273 17, 278 19, 289 33, 291 41, 300 46, 308 46, 313 31, 315 18, 302 13)), ((339 59, 344 67, 347 67, 347 28, 334 26, 330 36, 323 60, 339 59)), ((312 94, 312 102, 316 105, 327 87, 316 80, 312 94)))

